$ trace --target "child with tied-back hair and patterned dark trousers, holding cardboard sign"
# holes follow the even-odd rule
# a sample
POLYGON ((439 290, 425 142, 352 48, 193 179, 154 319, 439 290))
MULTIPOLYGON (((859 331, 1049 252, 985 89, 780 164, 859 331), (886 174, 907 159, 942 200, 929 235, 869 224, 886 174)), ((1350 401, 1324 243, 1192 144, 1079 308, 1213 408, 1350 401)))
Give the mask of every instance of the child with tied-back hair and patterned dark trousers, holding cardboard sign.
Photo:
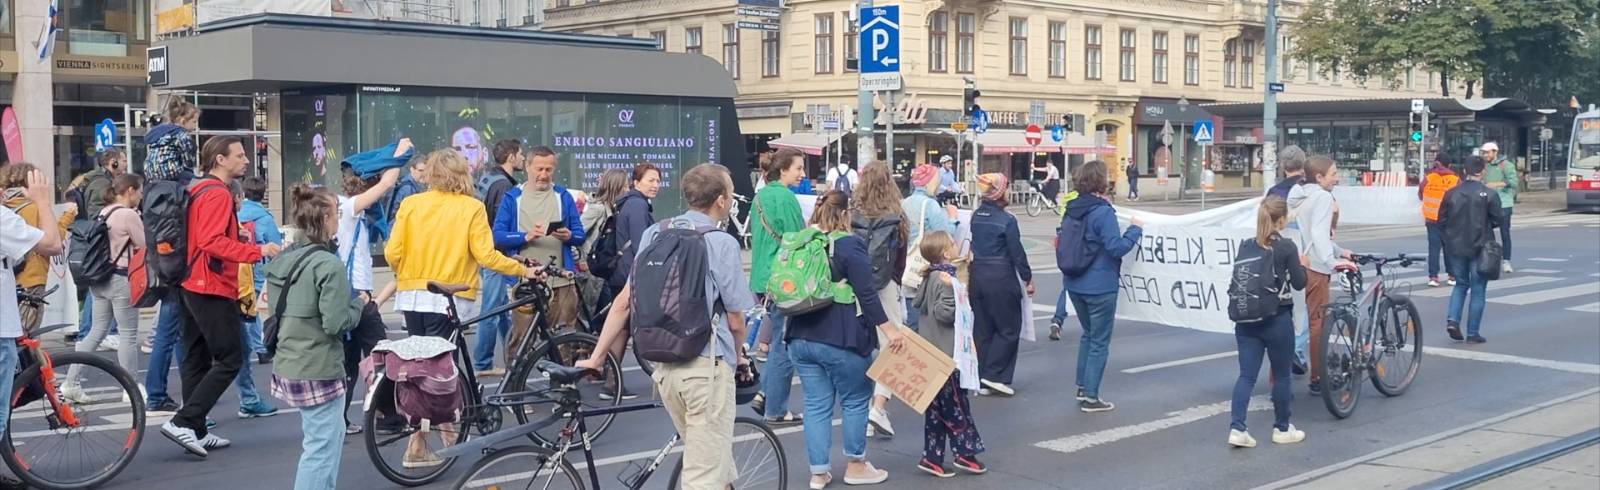
MULTIPOLYGON (((962 307, 957 307, 957 295, 962 285, 955 279, 955 266, 950 264, 955 259, 955 240, 944 231, 928 232, 922 239, 920 251, 931 266, 922 271, 926 279, 923 279, 912 303, 925 319, 917 333, 944 351, 946 355, 955 357, 958 370, 950 373, 950 380, 944 381, 944 388, 923 412, 922 461, 917 463, 917 468, 941 479, 955 476, 955 471, 944 466, 944 445, 949 440, 950 448, 955 450, 955 468, 971 474, 984 474, 989 466, 978 461, 978 453, 984 452, 984 442, 973 423, 973 405, 966 400, 966 389, 962 389, 962 375, 976 373, 963 373, 960 367, 966 365, 971 370, 976 365, 976 357, 973 362, 963 363, 963 355, 958 355, 965 352, 965 357, 971 357, 974 352, 970 306, 965 307, 968 328, 957 328, 957 315, 962 314, 962 307)), ((976 388, 976 383, 970 384, 976 388)))

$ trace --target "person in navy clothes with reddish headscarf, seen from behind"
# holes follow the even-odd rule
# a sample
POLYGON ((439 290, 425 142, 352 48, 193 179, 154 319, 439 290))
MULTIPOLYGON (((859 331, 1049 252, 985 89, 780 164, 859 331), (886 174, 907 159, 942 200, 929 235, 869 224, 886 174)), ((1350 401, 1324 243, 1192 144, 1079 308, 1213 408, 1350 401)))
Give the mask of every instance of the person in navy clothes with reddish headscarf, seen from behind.
MULTIPOLYGON (((978 341, 979 394, 1014 396, 1018 343, 1022 335, 1022 295, 1034 296, 1034 269, 1022 250, 1022 231, 1006 211, 1011 179, 978 176, 982 203, 973 213, 973 336, 978 341)), ((1029 322, 1032 323, 1032 322, 1029 322)))

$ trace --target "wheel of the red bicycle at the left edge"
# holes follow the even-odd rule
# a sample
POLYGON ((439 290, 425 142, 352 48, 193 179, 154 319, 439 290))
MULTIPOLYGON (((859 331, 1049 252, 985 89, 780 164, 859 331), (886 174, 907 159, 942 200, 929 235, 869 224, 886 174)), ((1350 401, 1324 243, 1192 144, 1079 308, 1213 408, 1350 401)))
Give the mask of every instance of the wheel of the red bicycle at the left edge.
MULTIPOLYGON (((19 351, 29 355, 26 351, 19 351)), ((78 368, 77 392, 51 404, 35 363, 18 373, 0 455, 35 488, 93 488, 133 463, 144 440, 144 396, 117 362, 90 352, 51 357, 50 392, 59 396, 78 368)))

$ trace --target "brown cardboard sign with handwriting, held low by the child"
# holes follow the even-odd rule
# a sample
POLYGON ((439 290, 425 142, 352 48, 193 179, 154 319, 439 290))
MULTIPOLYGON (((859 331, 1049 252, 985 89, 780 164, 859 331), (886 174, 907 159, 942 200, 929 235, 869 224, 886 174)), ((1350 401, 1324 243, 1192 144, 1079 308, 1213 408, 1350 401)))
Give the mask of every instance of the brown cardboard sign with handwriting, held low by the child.
POLYGON ((901 349, 878 351, 878 359, 867 368, 867 378, 888 386, 894 397, 923 413, 944 381, 950 380, 955 360, 915 331, 901 328, 901 349))

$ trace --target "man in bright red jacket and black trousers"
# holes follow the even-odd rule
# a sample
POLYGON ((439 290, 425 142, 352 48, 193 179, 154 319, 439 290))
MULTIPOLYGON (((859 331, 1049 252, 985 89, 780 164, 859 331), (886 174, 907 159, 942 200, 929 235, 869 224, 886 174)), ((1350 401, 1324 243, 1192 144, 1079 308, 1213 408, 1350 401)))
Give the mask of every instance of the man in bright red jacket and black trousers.
POLYGON ((245 362, 238 312, 238 264, 278 255, 274 243, 254 245, 238 235, 238 213, 229 184, 245 176, 250 159, 234 136, 216 136, 200 149, 205 178, 189 186, 189 277, 182 282, 184 407, 162 424, 162 436, 192 455, 229 447, 210 434, 206 413, 227 391, 245 362))

